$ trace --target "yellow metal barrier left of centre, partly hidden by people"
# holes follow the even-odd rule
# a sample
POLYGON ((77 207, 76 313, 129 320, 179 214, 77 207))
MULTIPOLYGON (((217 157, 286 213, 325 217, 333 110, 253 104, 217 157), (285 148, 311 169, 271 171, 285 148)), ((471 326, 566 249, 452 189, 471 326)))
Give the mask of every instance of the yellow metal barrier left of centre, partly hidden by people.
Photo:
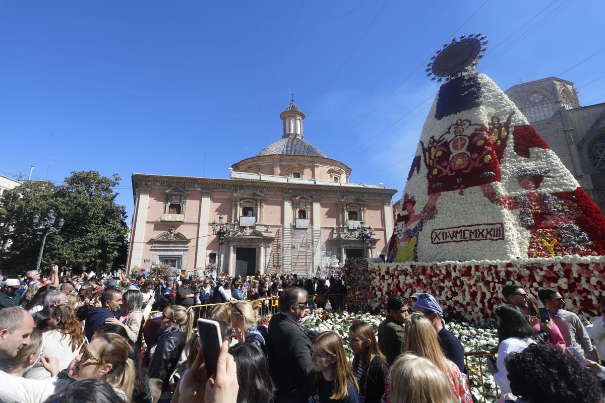
MULTIPOLYGON (((324 294, 324 295, 309 295, 309 309, 322 308, 325 311, 336 311, 337 309, 346 308, 346 299, 343 294, 324 294)), ((253 305, 258 303, 258 314, 262 318, 267 315, 275 315, 280 312, 280 303, 278 298, 260 298, 258 300, 250 301, 253 305)), ((204 305, 192 305, 187 308, 188 311, 193 310, 196 318, 208 317, 208 311, 213 306, 217 305, 228 305, 231 306, 231 302, 221 302, 215 304, 204 304, 204 305)))

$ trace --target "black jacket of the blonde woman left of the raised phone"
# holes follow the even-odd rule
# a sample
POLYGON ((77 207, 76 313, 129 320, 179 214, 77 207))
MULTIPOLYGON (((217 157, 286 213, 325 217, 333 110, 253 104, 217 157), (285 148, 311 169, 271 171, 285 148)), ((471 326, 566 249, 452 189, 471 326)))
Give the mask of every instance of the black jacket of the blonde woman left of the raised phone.
POLYGON ((150 358, 147 374, 149 378, 162 379, 162 390, 168 390, 168 380, 177 367, 178 358, 186 343, 185 332, 172 332, 155 343, 155 351, 150 358))

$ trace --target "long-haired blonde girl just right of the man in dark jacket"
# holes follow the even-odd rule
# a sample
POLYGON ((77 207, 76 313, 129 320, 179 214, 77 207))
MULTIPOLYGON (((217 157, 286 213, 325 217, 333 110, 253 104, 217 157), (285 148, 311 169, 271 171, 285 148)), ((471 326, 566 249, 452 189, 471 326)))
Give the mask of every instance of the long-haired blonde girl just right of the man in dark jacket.
POLYGON ((357 403, 359 388, 338 333, 316 335, 311 350, 315 382, 309 390, 309 403, 357 403))

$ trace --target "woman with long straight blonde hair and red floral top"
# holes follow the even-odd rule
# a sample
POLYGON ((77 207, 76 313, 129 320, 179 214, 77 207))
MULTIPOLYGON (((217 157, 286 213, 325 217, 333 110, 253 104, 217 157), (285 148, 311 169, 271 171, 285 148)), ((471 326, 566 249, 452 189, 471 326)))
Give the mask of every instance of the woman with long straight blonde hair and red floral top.
POLYGON ((414 312, 410 315, 410 323, 405 331, 405 343, 402 346, 402 352, 414 353, 429 359, 450 379, 451 389, 459 401, 473 403, 464 376, 458 366, 443 355, 437 339, 437 332, 435 332, 431 321, 422 312, 414 312))

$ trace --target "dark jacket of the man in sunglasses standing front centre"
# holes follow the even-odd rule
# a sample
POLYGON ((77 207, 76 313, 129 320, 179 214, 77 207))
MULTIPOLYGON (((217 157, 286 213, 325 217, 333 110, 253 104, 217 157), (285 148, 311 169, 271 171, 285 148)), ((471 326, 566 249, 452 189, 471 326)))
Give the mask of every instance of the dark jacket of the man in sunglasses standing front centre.
POLYGON ((307 379, 313 371, 311 340, 307 330, 281 313, 269 321, 269 370, 276 402, 307 402, 307 379))

